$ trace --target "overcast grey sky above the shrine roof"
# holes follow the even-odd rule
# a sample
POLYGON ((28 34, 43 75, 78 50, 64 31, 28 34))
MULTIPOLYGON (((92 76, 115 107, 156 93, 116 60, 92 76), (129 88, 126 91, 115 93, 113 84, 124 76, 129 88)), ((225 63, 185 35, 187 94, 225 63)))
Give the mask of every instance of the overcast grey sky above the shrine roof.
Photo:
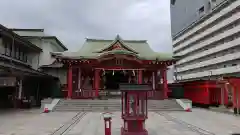
POLYGON ((144 39, 171 52, 169 0, 1 0, 0 23, 44 28, 73 51, 86 37, 144 39))

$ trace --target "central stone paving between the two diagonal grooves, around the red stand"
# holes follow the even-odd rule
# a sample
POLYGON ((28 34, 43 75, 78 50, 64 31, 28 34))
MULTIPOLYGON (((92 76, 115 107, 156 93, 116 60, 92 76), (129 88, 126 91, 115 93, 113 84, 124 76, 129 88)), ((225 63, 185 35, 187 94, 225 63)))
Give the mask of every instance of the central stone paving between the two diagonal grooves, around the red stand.
MULTIPOLYGON (((120 135, 121 114, 116 112, 112 119, 112 135, 120 135)), ((146 127, 149 135, 198 135, 188 128, 150 112, 146 127)), ((88 113, 68 135, 104 135, 104 121, 100 113, 88 113)))

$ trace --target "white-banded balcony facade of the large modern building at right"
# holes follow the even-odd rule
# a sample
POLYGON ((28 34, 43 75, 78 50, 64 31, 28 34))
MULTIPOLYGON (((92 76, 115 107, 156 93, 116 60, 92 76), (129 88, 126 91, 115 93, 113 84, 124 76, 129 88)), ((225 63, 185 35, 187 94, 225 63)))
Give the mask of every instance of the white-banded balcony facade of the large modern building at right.
POLYGON ((181 57, 177 80, 240 75, 240 0, 226 1, 205 16, 210 17, 173 40, 174 55, 181 57))

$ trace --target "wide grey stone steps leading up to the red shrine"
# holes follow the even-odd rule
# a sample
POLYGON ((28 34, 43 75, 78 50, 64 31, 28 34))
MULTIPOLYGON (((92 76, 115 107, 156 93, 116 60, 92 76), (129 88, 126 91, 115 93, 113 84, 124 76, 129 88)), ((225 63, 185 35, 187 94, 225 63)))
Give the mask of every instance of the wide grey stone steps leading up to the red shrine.
MULTIPOLYGON (((149 100, 149 111, 183 111, 184 109, 175 99, 149 100)), ((119 112, 121 111, 120 99, 84 100, 61 99, 53 111, 86 111, 86 112, 119 112)))

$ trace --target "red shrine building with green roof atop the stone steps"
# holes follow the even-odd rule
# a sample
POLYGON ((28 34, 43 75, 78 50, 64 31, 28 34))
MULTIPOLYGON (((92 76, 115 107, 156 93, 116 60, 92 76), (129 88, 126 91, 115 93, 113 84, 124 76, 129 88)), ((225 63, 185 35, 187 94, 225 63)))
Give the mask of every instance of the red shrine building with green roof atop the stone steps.
MULTIPOLYGON (((55 52, 56 61, 67 69, 66 98, 109 97, 120 93, 119 84, 149 84, 148 96, 168 98, 167 69, 176 62, 172 54, 154 52, 146 40, 87 38, 76 52, 55 52)), ((51 65, 49 65, 51 66, 51 65)), ((120 96, 120 94, 119 94, 120 96)))

